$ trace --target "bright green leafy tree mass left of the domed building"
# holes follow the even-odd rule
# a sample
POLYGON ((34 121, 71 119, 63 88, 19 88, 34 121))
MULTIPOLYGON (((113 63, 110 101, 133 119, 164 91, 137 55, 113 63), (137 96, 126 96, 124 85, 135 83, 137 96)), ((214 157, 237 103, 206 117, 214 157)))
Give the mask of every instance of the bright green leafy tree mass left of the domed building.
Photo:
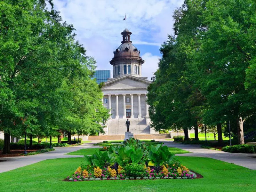
MULTIPOLYGON (((92 79, 96 61, 53 3, 0 2, 0 129, 11 135, 103 132, 108 118, 92 79)), ((4 148, 4 152, 10 149, 4 148)))

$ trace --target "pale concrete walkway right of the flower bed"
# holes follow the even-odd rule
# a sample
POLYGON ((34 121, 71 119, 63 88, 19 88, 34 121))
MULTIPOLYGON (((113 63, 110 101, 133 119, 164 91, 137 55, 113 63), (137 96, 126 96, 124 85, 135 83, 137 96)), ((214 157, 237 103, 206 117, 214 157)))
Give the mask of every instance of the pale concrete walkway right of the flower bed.
POLYGON ((177 154, 177 156, 194 156, 194 157, 209 157, 225 161, 228 163, 234 163, 249 169, 256 170, 256 154, 252 153, 228 153, 224 151, 217 151, 212 149, 201 148, 201 145, 184 145, 175 143, 173 141, 164 141, 164 145, 168 147, 176 147, 184 149, 191 153, 177 154), (253 158, 254 157, 254 158, 253 158))

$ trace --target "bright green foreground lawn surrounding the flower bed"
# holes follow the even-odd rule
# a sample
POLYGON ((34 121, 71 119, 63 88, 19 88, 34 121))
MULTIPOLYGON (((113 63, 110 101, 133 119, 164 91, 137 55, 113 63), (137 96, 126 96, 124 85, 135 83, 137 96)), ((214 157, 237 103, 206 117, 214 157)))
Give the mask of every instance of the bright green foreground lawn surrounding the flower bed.
POLYGON ((256 171, 204 157, 179 157, 182 164, 204 176, 193 180, 62 181, 83 158, 49 159, 0 173, 1 191, 255 191, 256 171))

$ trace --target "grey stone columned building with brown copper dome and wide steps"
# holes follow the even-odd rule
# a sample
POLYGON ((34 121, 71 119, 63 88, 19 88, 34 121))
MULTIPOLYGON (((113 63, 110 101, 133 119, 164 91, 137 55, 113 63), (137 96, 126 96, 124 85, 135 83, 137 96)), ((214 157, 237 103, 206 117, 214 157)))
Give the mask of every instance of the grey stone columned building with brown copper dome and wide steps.
POLYGON ((107 135, 123 135, 125 121, 130 120, 130 131, 134 134, 155 133, 149 127, 147 87, 151 81, 141 76, 144 60, 131 41, 128 29, 121 33, 123 41, 113 52, 110 61, 113 66, 113 78, 108 78, 102 87, 103 105, 111 109, 111 118, 104 129, 107 135))

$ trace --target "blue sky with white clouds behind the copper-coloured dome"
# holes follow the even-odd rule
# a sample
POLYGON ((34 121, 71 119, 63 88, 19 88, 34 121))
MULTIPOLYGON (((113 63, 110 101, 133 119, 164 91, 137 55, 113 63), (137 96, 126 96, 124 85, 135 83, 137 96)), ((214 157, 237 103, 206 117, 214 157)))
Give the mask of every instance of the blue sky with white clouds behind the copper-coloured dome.
POLYGON ((87 55, 97 61, 98 70, 111 70, 109 61, 121 44, 121 32, 132 32, 131 41, 145 63, 142 76, 151 79, 161 54, 159 48, 173 34, 172 14, 183 0, 53 0, 54 9, 68 24, 74 24, 76 39, 84 45, 87 55))

